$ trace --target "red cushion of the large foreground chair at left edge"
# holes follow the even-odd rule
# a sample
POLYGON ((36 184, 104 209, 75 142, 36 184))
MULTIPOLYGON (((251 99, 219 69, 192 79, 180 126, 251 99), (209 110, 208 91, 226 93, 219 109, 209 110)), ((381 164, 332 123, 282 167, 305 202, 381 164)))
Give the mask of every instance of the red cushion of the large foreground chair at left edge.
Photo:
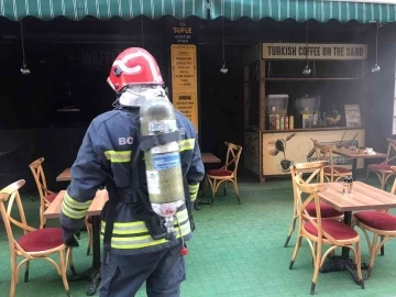
POLYGON ((62 228, 45 228, 22 235, 18 241, 26 252, 40 252, 63 244, 62 228))

